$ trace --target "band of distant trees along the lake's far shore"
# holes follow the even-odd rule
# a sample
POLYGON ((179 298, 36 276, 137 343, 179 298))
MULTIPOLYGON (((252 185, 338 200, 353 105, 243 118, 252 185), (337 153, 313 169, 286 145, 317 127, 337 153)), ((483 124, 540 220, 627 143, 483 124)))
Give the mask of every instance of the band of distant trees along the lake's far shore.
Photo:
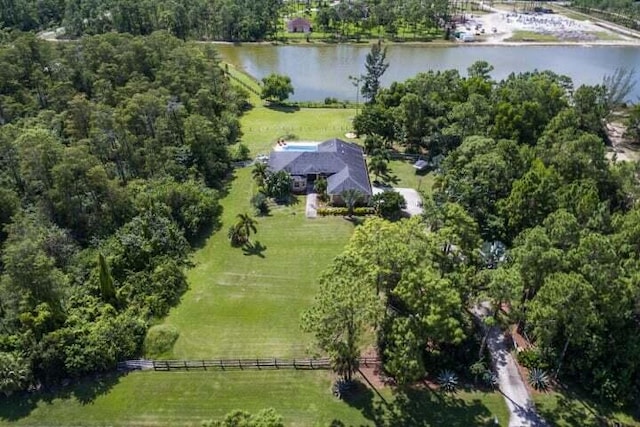
MULTIPOLYGON (((65 28, 66 37, 107 32, 148 35, 166 30, 180 39, 275 40, 284 19, 304 16, 314 28, 340 37, 360 37, 382 29, 396 36, 442 29, 456 13, 448 1, 357 0, 330 6, 328 1, 282 0, 5 0, 0 24, 22 31, 65 28)), ((458 3, 455 2, 454 6, 458 3)))

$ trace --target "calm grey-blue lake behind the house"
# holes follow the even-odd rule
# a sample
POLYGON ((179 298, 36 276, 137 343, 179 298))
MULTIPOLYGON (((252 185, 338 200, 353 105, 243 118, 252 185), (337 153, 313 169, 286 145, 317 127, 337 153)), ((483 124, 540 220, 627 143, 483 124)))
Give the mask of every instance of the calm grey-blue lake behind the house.
MULTIPOLYGON (((356 89, 350 75, 364 74, 369 46, 272 46, 220 45, 225 61, 242 67, 261 79, 270 73, 291 77, 294 101, 322 101, 326 97, 355 101, 356 89)), ((493 77, 500 80, 511 72, 552 70, 580 84, 597 84, 617 67, 640 70, 640 47, 633 46, 459 46, 390 45, 389 69, 383 85, 403 81, 428 70, 466 69, 478 60, 495 67, 493 77)), ((640 98, 640 85, 629 96, 640 98)))

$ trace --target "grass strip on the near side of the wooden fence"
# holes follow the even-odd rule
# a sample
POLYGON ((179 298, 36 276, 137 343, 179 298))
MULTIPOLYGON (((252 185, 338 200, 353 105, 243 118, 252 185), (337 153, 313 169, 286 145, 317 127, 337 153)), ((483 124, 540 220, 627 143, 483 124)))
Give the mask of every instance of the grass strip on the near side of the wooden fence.
POLYGON ((0 401, 0 423, 11 425, 189 425, 234 409, 273 407, 287 426, 477 426, 507 413, 498 393, 445 396, 414 390, 394 396, 359 387, 346 402, 331 392, 326 371, 134 372, 66 387, 55 395, 0 401), (383 400, 384 399, 384 400, 383 400), (385 403, 386 402, 386 403, 385 403), (394 415, 391 415, 391 414, 394 415))

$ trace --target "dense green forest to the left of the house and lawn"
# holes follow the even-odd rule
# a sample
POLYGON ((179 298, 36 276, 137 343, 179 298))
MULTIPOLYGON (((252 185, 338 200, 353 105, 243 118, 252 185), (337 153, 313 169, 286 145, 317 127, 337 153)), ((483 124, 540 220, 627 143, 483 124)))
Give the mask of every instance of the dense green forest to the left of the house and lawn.
POLYGON ((245 95, 167 33, 0 45, 0 391, 111 370, 217 227, 245 95))

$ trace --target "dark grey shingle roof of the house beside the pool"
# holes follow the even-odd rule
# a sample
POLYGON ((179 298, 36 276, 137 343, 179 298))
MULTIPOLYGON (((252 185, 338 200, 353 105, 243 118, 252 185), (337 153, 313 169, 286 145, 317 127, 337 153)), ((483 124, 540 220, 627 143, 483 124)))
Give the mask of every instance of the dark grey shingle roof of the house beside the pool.
POLYGON ((285 170, 291 175, 324 174, 327 192, 340 194, 355 188, 371 195, 371 184, 362 148, 340 139, 318 144, 318 151, 272 151, 269 168, 275 172, 285 170))

